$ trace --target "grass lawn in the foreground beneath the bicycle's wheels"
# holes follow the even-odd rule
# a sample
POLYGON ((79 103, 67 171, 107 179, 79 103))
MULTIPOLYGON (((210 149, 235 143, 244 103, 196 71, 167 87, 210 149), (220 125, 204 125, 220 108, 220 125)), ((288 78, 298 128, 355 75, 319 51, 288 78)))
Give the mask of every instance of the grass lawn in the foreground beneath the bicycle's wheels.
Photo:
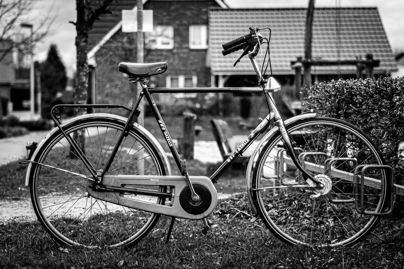
POLYGON ((177 220, 164 244, 170 219, 163 216, 135 246, 87 250, 59 246, 39 223, 0 224, 0 268, 404 268, 404 225, 385 218, 354 247, 286 246, 248 211, 244 196, 219 201, 214 225, 202 235, 201 221, 177 220))

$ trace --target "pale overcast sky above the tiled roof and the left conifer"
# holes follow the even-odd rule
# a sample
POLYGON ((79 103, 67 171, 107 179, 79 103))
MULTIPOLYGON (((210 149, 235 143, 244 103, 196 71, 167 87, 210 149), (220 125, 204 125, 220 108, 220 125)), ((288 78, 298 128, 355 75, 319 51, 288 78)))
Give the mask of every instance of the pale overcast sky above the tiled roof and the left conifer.
MULTIPOLYGON (((316 0, 316 7, 335 7, 340 1, 344 6, 377 6, 393 50, 404 50, 404 0, 316 0)), ((135 0, 134 0, 135 2, 135 0)), ((271 7, 307 7, 308 0, 225 0, 231 8, 271 8, 271 7)), ((76 31, 69 21, 76 21, 75 0, 40 0, 36 4, 38 14, 50 10, 55 17, 51 34, 38 46, 36 59, 43 61, 52 43, 56 43, 69 75, 76 69, 76 31)), ((35 25, 34 25, 35 27, 35 25)), ((269 25, 270 27, 270 25, 269 25)))

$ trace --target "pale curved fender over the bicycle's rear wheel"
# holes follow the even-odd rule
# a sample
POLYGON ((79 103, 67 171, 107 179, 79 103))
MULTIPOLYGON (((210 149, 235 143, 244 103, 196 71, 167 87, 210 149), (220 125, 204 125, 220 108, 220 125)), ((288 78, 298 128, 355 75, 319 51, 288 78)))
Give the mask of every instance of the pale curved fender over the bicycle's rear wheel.
MULTIPOLYGON (((86 115, 82 115, 82 116, 78 116, 76 118, 72 118, 66 122, 63 122, 61 124, 61 127, 65 127, 69 124, 71 124, 72 122, 75 122, 76 120, 83 120, 83 119, 88 119, 88 118, 107 118, 107 119, 113 119, 113 120, 118 120, 122 123, 125 123, 128 121, 127 118, 118 116, 118 115, 113 115, 113 114, 107 114, 107 113, 94 113, 94 114, 86 114, 86 115)), ((164 169, 167 172, 168 176, 172 176, 172 170, 171 170, 171 166, 170 166, 170 162, 168 162, 168 158, 166 156, 166 153, 164 152, 164 149, 161 147, 160 143, 158 143, 157 139, 153 137, 153 135, 151 135, 151 133, 149 133, 149 131, 147 131, 145 128, 143 128, 141 125, 137 124, 136 122, 133 124, 133 128, 136 128, 137 130, 139 130, 145 137, 147 137, 147 139, 149 140, 149 142, 156 147, 156 149, 160 152, 160 157, 163 158, 164 160, 164 169)), ((38 152, 40 151, 40 148, 46 143, 46 141, 48 141, 48 139, 50 139, 50 137, 55 134, 55 132, 57 132, 59 130, 58 127, 54 128, 53 130, 51 130, 48 135, 46 135, 46 137, 44 139, 42 139, 41 143, 39 143, 38 147, 36 147, 36 150, 34 152, 34 154, 32 155, 31 160, 35 160, 36 155, 38 154, 38 152)), ((28 165, 28 170, 27 170, 27 175, 25 176, 25 187, 29 186, 29 176, 31 173, 31 169, 32 168, 32 163, 29 163, 28 165)))

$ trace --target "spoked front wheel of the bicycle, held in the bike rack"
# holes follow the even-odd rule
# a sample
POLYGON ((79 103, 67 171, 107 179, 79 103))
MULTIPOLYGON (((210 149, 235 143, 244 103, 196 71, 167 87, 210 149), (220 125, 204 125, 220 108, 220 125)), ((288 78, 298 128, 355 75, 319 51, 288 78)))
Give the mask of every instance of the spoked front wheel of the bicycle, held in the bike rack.
MULTIPOLYGON (((376 145, 355 126, 332 118, 300 120, 286 128, 302 166, 321 179, 324 187, 307 187, 310 184, 276 132, 264 145, 253 172, 252 195, 263 223, 287 244, 322 247, 359 242, 379 217, 355 209, 353 173, 358 165, 384 164, 376 145), (325 162, 331 163, 328 169, 324 169, 325 162)), ((364 207, 381 212, 385 174, 369 169, 365 176, 380 183, 365 185, 364 207)))

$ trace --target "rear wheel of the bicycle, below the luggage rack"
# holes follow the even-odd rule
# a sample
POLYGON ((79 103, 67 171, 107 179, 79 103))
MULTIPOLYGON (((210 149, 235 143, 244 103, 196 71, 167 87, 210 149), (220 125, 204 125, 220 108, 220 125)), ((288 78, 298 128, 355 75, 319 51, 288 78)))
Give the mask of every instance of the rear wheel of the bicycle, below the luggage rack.
MULTIPOLYGON (((73 137, 74 133, 83 134, 78 144, 83 146, 80 141, 85 141, 86 157, 98 170, 107 162, 123 127, 124 123, 118 120, 88 118, 72 122, 63 129, 73 137)), ((38 150, 35 162, 90 176, 60 130, 38 150)), ((132 128, 106 174, 139 174, 141 170, 144 174, 166 175, 159 151, 145 135, 132 128), (141 168, 139 160, 143 160, 146 169, 141 168)), ((46 166, 33 165, 29 180, 35 213, 44 229, 59 243, 90 248, 135 243, 153 229, 160 217, 95 199, 87 192, 89 180, 46 166)), ((158 186, 141 187, 166 191, 158 186)), ((149 199, 158 204, 165 202, 164 198, 128 193, 125 197, 149 199)))

